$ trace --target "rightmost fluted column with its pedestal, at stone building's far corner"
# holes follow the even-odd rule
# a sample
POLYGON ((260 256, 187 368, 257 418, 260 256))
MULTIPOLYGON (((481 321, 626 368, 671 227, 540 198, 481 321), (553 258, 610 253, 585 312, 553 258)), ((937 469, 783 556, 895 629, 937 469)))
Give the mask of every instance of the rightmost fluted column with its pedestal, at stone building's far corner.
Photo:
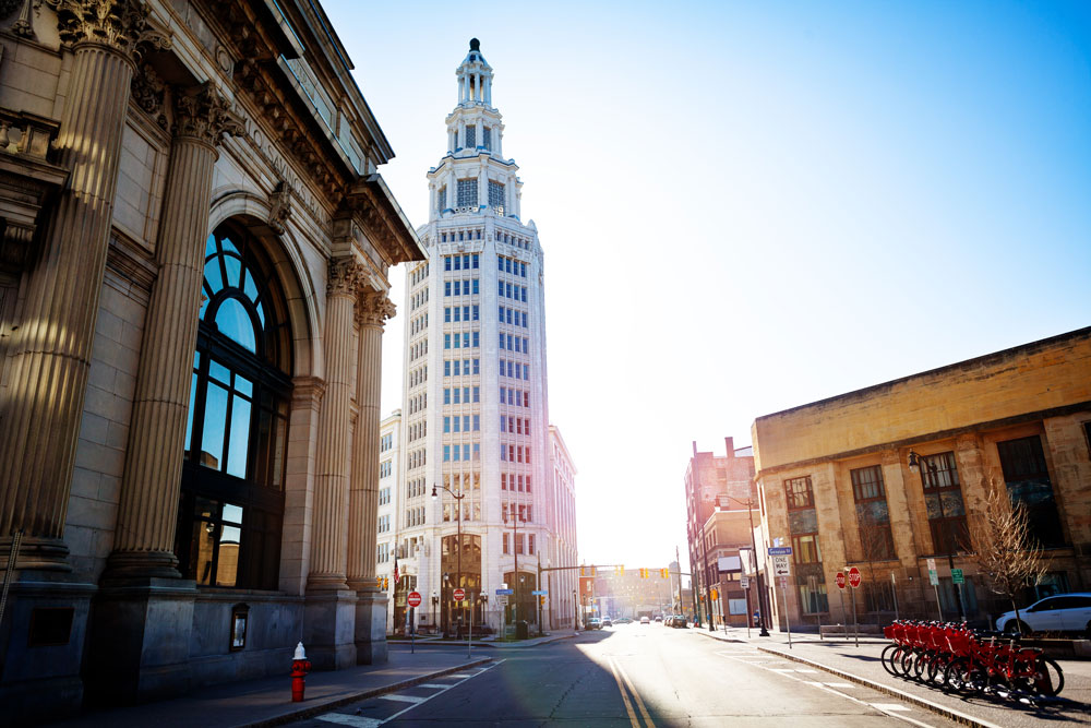
POLYGON ((386 294, 367 290, 357 303, 360 344, 356 393, 359 418, 353 443, 348 505, 348 580, 357 593, 356 658, 386 661, 386 596, 375 587, 379 518, 379 407, 383 368, 383 323, 394 315, 386 294))

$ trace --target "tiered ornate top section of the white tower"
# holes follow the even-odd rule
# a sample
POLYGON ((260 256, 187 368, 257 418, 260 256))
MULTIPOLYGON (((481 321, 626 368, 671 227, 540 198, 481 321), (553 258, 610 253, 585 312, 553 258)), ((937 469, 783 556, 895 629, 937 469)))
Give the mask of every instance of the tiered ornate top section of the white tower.
POLYGON ((523 182, 518 167, 503 156, 504 122, 492 105, 492 67, 477 38, 470 39, 455 76, 458 103, 446 118, 446 153, 428 174, 429 219, 484 213, 518 218, 523 182))

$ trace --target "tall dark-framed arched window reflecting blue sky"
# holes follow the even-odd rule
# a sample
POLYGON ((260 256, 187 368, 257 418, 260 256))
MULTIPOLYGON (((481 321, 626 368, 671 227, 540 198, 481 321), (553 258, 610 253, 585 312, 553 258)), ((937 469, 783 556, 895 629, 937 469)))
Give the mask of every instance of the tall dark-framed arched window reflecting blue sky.
POLYGON ((259 241, 205 248, 175 551, 205 586, 277 588, 291 396, 288 307, 259 241))

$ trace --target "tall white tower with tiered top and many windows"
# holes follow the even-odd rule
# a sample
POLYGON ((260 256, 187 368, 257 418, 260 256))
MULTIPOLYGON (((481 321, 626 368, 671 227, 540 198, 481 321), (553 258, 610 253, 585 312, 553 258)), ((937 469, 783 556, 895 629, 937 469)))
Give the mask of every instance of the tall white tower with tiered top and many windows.
MULTIPOLYGON (((523 183, 503 155, 493 71, 476 38, 456 76, 418 230, 428 260, 407 272, 398 551, 425 602, 437 597, 441 626, 461 586, 488 598, 475 602, 475 624, 496 629, 516 598, 518 618, 537 621, 531 592, 551 553, 542 251, 533 222, 520 219, 523 183), (507 609, 503 584, 515 590, 507 609)), ((395 607, 404 599, 392 596, 395 607)), ((428 623, 431 610, 418 616, 428 623)))

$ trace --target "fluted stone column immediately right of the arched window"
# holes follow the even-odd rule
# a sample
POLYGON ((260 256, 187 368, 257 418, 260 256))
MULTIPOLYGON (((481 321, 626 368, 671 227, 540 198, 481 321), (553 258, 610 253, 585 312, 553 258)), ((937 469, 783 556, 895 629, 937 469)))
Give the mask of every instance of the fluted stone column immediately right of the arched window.
POLYGON ((347 589, 349 402, 352 396, 352 318, 362 266, 348 259, 329 263, 323 346, 326 392, 319 415, 314 482, 314 533, 307 588, 347 589))

